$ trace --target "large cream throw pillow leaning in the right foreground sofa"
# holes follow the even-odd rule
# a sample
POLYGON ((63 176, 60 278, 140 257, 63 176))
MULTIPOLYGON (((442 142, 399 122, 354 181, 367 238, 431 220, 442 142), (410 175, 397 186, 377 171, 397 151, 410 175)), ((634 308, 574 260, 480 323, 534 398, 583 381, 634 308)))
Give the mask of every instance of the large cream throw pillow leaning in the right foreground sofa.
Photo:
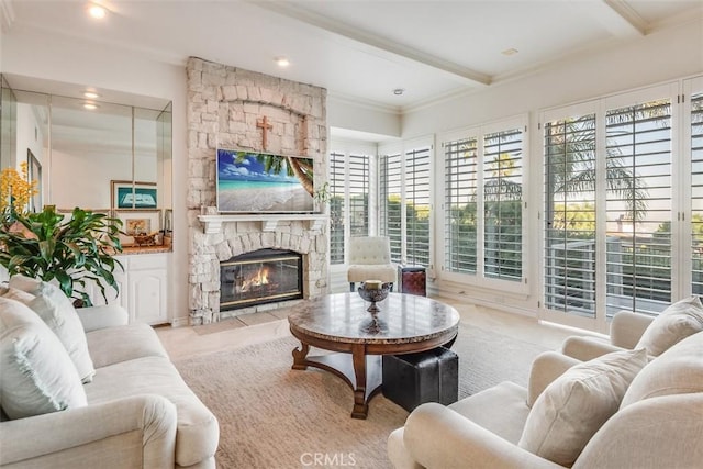
POLYGON ((577 365, 535 401, 517 445, 571 467, 620 406, 631 381, 647 364, 645 349, 614 351, 577 365))

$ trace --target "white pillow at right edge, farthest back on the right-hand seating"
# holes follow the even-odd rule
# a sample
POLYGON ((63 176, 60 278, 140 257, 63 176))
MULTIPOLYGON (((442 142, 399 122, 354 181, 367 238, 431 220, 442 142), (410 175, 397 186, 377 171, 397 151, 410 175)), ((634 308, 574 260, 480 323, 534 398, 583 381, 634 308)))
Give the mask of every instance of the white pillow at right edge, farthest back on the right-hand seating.
POLYGON ((649 324, 635 348, 646 348, 652 357, 677 342, 703 331, 703 305, 698 297, 678 301, 649 324))

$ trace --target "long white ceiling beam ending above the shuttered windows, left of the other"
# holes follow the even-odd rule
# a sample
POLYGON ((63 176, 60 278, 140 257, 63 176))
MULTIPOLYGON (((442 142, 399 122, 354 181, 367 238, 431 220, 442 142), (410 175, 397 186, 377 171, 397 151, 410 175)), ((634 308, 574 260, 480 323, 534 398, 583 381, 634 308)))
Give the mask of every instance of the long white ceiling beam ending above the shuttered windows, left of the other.
POLYGON ((462 82, 464 85, 476 87, 491 83, 491 77, 489 75, 481 74, 470 68, 462 67, 453 62, 445 60, 440 57, 423 53, 404 44, 389 41, 388 38, 384 38, 382 36, 371 34, 356 27, 352 27, 341 21, 336 21, 301 8, 294 2, 277 0, 265 2, 256 0, 245 1, 249 1, 257 7, 274 11, 276 13, 301 21, 312 26, 320 27, 337 36, 352 40, 355 43, 359 43, 364 46, 371 47, 375 49, 373 53, 376 54, 378 54, 378 52, 380 51, 381 53, 392 56, 392 59, 401 57, 404 60, 410 60, 421 66, 442 70, 445 74, 448 74, 455 80, 462 82))

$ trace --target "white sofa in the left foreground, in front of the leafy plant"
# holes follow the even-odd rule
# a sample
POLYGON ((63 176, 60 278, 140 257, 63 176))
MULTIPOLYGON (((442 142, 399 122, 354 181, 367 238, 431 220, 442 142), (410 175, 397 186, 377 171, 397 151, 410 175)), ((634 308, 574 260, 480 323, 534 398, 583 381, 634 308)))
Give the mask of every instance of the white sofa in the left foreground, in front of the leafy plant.
MULTIPOLYGON (((16 291, 14 295, 22 297, 16 291)), ((37 344, 54 344, 55 339, 41 330, 34 319, 29 325, 22 324, 29 316, 27 306, 33 305, 26 297, 23 297, 26 304, 13 299, 13 294, 9 297, 0 298, 3 360, 0 372, 0 405, 3 409, 0 467, 215 467, 220 432, 215 416, 181 379, 154 330, 144 324, 127 325, 127 313, 119 306, 78 310, 79 324, 85 330, 85 337, 79 337, 78 342, 82 340, 88 348, 89 357, 82 359, 89 360, 92 372, 83 377, 74 373, 69 366, 62 368, 60 364, 42 371, 48 375, 47 380, 55 382, 70 376, 69 398, 43 402, 49 406, 58 402, 48 412, 36 411, 31 405, 27 409, 22 402, 18 405, 24 405, 24 409, 14 405, 11 400, 21 401, 23 397, 12 394, 11 383, 26 377, 26 373, 12 375, 13 362, 20 357, 16 349, 27 336, 33 339, 33 334, 42 337, 37 344), (57 369, 60 372, 52 376, 51 372, 57 369), (83 383, 76 384, 76 378, 83 379, 83 383), (9 420, 10 413, 14 418, 9 420)), ((47 321, 45 316, 42 319, 47 321)), ((52 321, 47 322, 49 326, 54 324, 52 321)), ((62 337, 59 332, 56 335, 62 337)), ((65 345, 65 337, 62 340, 65 345)), ((71 349, 75 351, 76 347, 67 346, 72 360, 71 349)), ((37 350, 30 347, 23 353, 30 354, 25 358, 32 359, 31 354, 37 350)), ((42 361, 53 359, 53 356, 41 358, 42 361)), ((76 368, 80 369, 79 366, 76 368)), ((35 376, 32 378, 38 381, 35 376)))

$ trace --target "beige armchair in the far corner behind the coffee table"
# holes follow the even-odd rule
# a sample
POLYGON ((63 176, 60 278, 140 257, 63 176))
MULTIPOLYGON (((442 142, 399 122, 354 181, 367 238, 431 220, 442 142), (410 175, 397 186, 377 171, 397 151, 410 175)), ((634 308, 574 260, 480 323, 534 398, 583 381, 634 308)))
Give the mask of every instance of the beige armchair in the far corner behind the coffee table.
MULTIPOLYGON (((397 266, 391 263, 391 245, 384 236, 357 236, 349 243, 349 290, 354 283, 366 280, 395 282, 397 266)), ((391 290, 393 287, 391 286, 391 290)))

